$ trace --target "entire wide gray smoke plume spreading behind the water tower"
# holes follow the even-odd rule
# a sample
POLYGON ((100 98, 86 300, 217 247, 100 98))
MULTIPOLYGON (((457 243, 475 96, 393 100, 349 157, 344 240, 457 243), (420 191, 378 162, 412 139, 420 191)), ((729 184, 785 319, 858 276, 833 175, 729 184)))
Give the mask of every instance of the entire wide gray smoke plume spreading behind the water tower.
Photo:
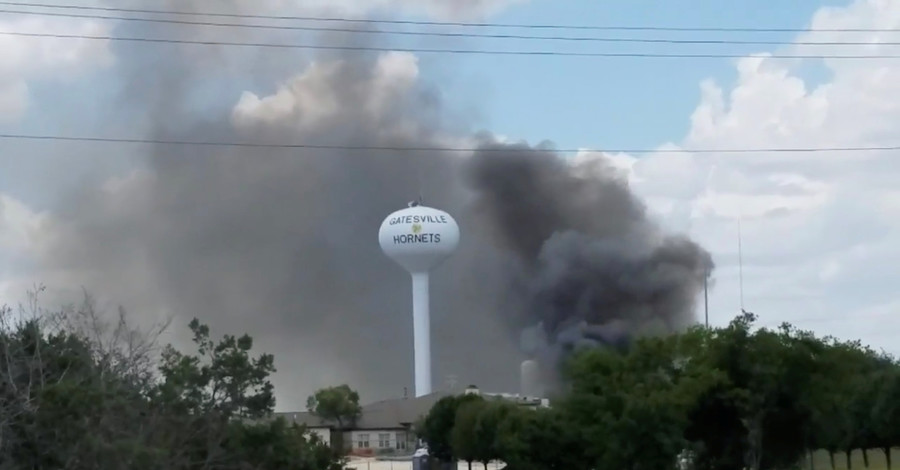
POLYGON ((432 278, 437 387, 512 391, 526 356, 555 365, 574 345, 690 322, 709 254, 662 233, 604 160, 475 134, 408 54, 201 51, 120 53, 111 115, 141 116, 150 139, 480 148, 121 146, 141 172, 61 202, 47 272, 138 315, 250 333, 276 355, 280 409, 338 383, 365 401, 411 392, 409 278, 377 230, 420 192, 462 230, 432 278))

